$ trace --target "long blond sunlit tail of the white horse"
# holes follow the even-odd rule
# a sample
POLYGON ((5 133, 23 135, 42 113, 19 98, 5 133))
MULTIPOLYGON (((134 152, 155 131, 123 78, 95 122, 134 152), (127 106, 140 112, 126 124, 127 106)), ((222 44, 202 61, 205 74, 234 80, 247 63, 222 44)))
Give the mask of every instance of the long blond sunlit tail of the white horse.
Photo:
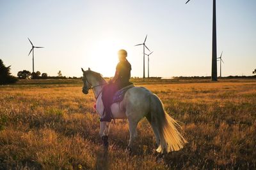
POLYGON ((156 132, 160 138, 157 152, 164 153, 182 149, 187 141, 177 130, 180 125, 164 111, 163 103, 156 94, 150 94, 150 113, 148 114, 150 114, 150 123, 156 126, 156 132))

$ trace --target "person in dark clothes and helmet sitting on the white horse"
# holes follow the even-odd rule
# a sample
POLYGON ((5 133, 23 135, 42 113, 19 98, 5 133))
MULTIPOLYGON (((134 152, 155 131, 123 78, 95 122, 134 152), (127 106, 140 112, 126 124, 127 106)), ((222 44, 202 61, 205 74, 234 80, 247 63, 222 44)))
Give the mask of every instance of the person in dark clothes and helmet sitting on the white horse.
POLYGON ((131 85, 129 79, 131 78, 131 64, 126 59, 127 52, 125 50, 118 51, 119 62, 116 66, 115 76, 112 80, 109 80, 108 85, 103 87, 102 101, 104 104, 105 115, 100 121, 111 121, 111 109, 110 106, 113 102, 113 96, 115 92, 124 88, 127 85, 131 85))

